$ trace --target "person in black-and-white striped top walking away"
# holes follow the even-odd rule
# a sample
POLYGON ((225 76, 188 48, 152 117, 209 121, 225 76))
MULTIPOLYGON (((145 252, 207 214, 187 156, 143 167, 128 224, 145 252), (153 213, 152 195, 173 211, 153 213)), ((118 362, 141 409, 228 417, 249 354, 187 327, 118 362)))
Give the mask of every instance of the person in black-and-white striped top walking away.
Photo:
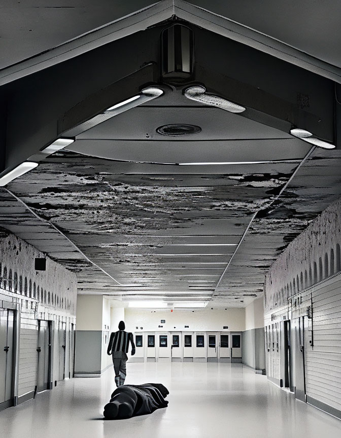
POLYGON ((131 342, 131 355, 135 354, 135 344, 132 333, 125 332, 125 323, 120 321, 118 324, 118 332, 113 332, 110 335, 107 353, 113 356, 115 383, 119 387, 124 384, 126 378, 126 361, 128 360, 127 352, 129 350, 129 342, 131 342))

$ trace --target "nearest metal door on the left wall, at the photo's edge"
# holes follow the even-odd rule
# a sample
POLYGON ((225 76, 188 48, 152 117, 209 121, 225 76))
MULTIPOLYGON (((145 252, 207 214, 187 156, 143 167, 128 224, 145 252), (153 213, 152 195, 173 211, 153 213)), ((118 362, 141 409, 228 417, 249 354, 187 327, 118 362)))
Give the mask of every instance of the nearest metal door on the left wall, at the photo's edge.
POLYGON ((0 409, 13 400, 14 311, 0 309, 0 409))

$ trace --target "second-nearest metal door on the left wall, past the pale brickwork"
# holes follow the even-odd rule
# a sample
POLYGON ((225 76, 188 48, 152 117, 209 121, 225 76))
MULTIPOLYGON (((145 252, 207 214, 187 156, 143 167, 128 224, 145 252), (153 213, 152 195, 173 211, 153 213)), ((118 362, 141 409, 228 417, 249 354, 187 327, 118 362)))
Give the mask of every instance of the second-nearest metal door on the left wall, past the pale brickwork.
POLYGON ((38 320, 37 391, 51 387, 51 321, 38 320))

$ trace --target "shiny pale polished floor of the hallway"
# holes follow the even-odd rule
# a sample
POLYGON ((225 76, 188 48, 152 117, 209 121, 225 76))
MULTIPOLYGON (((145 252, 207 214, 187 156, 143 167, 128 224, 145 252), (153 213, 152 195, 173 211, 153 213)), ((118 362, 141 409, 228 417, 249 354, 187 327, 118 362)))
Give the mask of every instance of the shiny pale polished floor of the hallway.
POLYGON ((0 412, 6 438, 336 438, 341 421, 240 364, 127 363, 127 384, 163 383, 169 405, 129 420, 103 418, 113 370, 72 379, 35 400, 0 412))

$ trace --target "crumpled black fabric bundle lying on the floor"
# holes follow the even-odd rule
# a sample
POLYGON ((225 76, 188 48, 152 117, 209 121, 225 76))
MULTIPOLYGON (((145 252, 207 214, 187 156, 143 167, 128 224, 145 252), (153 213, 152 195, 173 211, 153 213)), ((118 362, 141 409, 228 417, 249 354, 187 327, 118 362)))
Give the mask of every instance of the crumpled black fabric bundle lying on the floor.
POLYGON ((104 407, 103 415, 110 420, 151 414, 156 409, 166 408, 169 394, 161 383, 122 385, 111 394, 110 403, 104 407))

